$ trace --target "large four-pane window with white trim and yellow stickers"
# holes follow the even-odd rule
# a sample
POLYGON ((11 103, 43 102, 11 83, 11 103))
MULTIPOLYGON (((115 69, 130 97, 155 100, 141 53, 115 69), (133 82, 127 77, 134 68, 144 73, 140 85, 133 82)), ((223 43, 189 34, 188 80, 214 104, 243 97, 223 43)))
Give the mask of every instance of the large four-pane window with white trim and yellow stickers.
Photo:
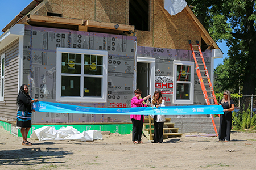
POLYGON ((108 52, 57 48, 56 101, 106 102, 108 52))

